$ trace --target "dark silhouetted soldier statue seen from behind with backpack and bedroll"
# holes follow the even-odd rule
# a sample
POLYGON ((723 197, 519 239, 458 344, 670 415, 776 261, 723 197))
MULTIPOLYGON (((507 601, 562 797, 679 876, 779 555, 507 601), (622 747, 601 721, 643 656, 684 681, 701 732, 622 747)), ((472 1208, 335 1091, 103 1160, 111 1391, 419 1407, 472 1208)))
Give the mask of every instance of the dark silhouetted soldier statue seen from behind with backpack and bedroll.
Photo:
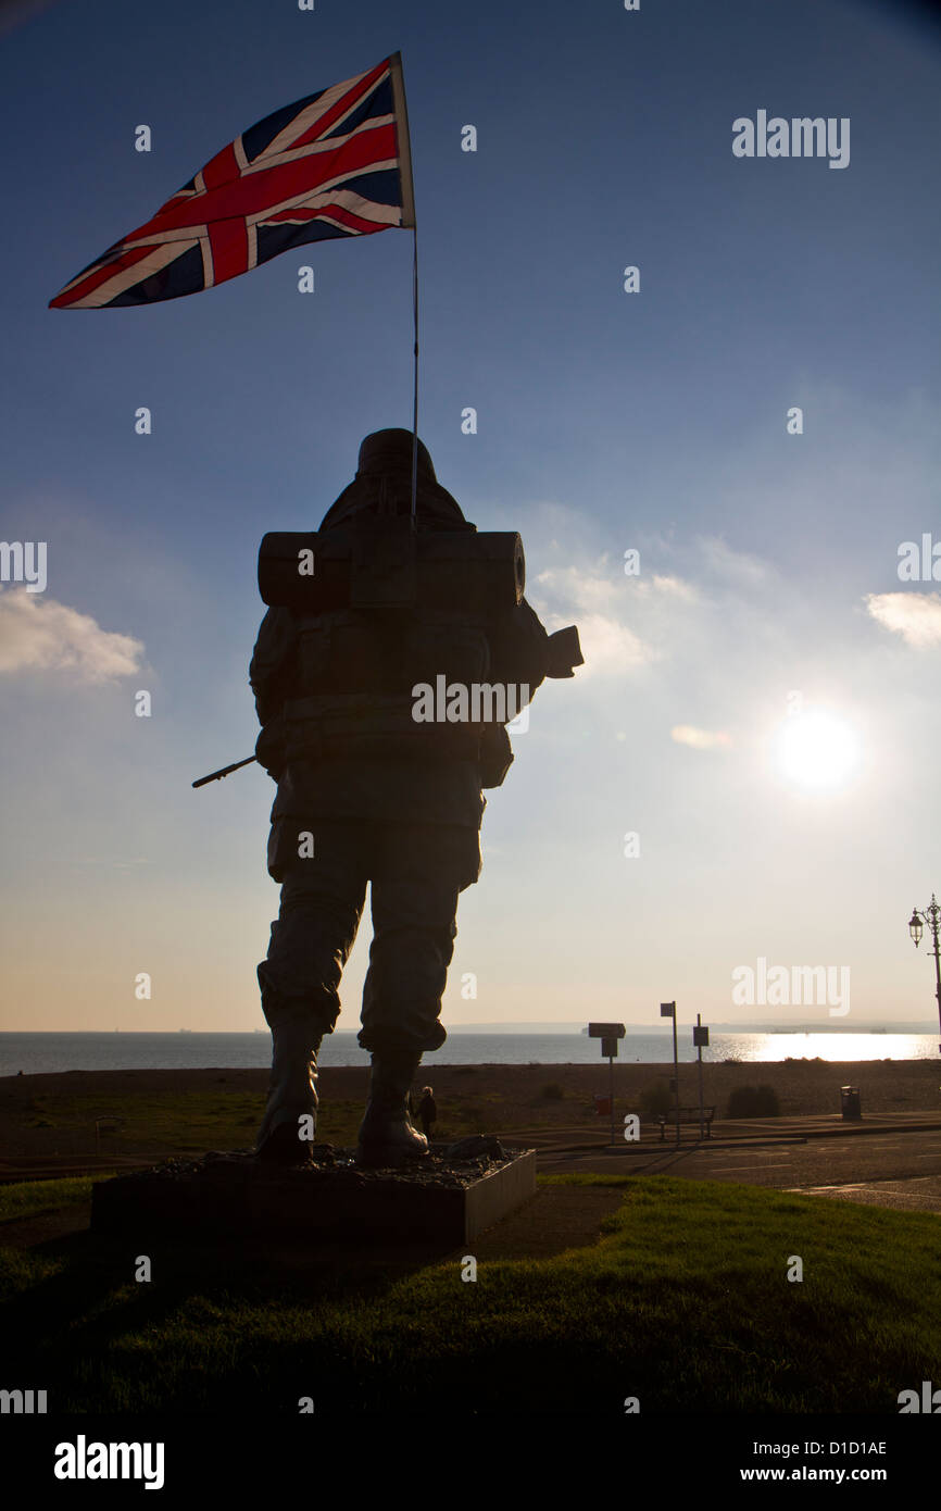
POLYGON ((359 1044, 372 1079, 356 1159, 427 1154, 406 1098, 446 1040, 441 996, 458 895, 480 875, 483 787, 512 762, 504 724, 582 663, 574 629, 547 635, 523 597, 520 536, 477 533, 412 434, 378 431, 355 480, 310 535, 267 535, 270 604, 251 663, 257 757, 278 783, 267 869, 281 882, 258 966, 272 1031, 261 1159, 310 1159, 317 1055, 367 882, 373 940, 359 1044), (307 1133, 307 1141, 304 1135, 307 1133))

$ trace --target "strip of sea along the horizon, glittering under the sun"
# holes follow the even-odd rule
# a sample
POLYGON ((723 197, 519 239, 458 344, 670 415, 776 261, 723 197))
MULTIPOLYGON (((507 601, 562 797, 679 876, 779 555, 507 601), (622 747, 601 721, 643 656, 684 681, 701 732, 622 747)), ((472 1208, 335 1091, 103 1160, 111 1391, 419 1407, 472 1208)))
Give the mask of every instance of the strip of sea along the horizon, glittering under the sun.
MULTIPOLYGON (((696 1058, 690 1029, 680 1027, 678 1058, 696 1058)), ((893 1061, 938 1058, 938 1032, 713 1032, 705 1061, 785 1059, 893 1061)), ((642 1027, 618 1044, 619 1064, 663 1065, 672 1059, 672 1035, 642 1027)), ((601 1041, 586 1034, 471 1032, 453 1027, 435 1052, 435 1065, 591 1065, 601 1061, 601 1041)), ((355 1034, 331 1034, 322 1065, 369 1065, 355 1034)), ((267 1029, 251 1034, 2 1034, 0 1076, 36 1076, 68 1070, 261 1070, 270 1065, 267 1029)))

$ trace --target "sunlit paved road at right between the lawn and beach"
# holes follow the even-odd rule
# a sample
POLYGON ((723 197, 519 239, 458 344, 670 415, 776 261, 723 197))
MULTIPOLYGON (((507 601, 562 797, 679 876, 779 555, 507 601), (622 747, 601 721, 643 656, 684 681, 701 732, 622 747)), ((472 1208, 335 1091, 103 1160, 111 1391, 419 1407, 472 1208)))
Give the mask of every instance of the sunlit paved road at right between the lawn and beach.
POLYGON ((941 1212, 941 1130, 814 1138, 805 1142, 539 1156, 539 1171, 683 1176, 773 1186, 876 1206, 941 1212))

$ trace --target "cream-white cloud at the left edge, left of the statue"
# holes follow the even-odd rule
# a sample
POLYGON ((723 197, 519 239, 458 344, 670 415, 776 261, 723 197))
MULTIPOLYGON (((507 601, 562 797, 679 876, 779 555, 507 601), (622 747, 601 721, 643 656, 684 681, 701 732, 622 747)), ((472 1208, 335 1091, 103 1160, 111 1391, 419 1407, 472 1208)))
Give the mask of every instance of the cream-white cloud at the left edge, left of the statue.
POLYGON ((115 681, 140 666, 143 645, 103 630, 89 613, 12 588, 0 592, 0 672, 71 671, 80 681, 115 681))

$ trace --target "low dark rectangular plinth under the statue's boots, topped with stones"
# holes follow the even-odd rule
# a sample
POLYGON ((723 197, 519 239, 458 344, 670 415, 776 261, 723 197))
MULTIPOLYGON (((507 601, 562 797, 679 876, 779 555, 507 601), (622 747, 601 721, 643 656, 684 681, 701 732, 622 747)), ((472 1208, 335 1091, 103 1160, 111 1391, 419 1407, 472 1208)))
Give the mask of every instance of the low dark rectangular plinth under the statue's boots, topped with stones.
POLYGON ((276 1166, 248 1151, 169 1160, 92 1186, 92 1230, 201 1242, 470 1242, 536 1192, 535 1150, 449 1157, 432 1147, 405 1170, 361 1170, 352 1150, 317 1145, 316 1163, 276 1166))

